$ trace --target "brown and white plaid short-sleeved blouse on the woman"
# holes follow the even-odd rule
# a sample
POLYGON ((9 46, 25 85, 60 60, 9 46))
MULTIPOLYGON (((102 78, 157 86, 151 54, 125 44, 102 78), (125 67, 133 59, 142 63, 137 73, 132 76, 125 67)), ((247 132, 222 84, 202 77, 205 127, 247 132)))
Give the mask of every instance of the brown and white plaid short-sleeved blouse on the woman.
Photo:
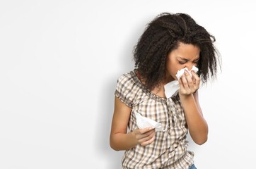
POLYGON ((156 132, 148 146, 137 145, 124 152, 123 168, 187 169, 192 165, 193 152, 187 151, 187 123, 179 96, 164 99, 151 93, 136 76, 136 69, 117 80, 115 96, 132 108, 128 130, 137 128, 134 111, 161 123, 165 132, 156 132))

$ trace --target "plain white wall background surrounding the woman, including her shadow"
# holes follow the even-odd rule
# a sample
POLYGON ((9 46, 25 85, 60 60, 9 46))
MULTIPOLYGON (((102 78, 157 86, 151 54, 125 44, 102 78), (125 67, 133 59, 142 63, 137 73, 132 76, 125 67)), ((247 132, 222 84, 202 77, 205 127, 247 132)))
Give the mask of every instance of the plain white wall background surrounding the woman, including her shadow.
POLYGON ((222 72, 199 91, 209 140, 190 144, 197 168, 255 168, 255 6, 0 1, 0 168, 121 168, 124 151, 109 146, 116 80, 161 12, 190 14, 222 55, 222 72))

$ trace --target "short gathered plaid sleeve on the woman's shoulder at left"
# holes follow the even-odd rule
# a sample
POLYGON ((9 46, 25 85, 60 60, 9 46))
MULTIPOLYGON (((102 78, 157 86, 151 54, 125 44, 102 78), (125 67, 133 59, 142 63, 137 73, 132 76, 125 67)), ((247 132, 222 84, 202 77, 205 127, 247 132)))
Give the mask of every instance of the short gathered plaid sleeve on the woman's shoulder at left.
POLYGON ((136 84, 130 73, 124 74, 117 80, 115 96, 127 106, 132 107, 135 96, 134 90, 136 90, 134 89, 135 87, 136 84))

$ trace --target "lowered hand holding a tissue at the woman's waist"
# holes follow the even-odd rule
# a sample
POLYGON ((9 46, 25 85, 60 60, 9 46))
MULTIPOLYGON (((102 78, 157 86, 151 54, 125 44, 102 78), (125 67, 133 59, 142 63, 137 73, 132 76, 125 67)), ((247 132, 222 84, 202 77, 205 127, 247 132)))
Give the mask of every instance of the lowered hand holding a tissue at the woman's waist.
POLYGON ((156 130, 152 127, 146 127, 143 129, 134 130, 135 138, 141 144, 141 146, 147 146, 151 144, 156 135, 156 130))

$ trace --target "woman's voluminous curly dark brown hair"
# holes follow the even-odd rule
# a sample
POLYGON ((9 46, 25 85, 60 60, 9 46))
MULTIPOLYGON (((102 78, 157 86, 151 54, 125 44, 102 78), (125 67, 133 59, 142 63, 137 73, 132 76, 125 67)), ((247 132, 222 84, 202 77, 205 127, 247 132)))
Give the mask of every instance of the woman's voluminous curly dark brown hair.
POLYGON ((180 42, 199 47, 197 74, 203 83, 216 76, 219 51, 213 44, 215 37, 186 13, 161 13, 147 25, 133 51, 135 67, 148 89, 165 80, 166 58, 180 42))

